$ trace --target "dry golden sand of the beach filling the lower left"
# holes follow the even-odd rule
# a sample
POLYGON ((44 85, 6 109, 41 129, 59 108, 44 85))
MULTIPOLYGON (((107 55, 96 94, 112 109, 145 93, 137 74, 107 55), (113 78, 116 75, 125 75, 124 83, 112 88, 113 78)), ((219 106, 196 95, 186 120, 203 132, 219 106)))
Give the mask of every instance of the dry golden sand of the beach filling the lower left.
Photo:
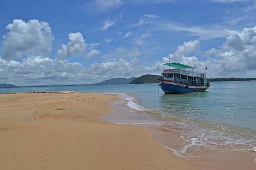
POLYGON ((0 94, 0 169, 195 169, 152 133, 104 123, 114 95, 0 94))

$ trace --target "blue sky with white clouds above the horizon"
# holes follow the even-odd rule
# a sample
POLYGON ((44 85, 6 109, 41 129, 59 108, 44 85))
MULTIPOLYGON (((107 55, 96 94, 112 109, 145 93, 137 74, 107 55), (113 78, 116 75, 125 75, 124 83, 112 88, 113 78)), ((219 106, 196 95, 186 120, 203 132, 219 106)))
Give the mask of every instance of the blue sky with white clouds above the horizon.
POLYGON ((256 77, 256 1, 0 1, 0 83, 87 84, 161 75, 256 77))

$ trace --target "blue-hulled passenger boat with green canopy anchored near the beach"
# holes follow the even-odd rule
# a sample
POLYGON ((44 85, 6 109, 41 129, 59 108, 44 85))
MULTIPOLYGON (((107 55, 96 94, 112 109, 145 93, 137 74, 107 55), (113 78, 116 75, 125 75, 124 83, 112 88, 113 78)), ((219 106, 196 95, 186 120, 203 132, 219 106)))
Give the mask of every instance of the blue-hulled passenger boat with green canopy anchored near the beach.
POLYGON ((159 86, 166 94, 205 91, 211 86, 206 78, 206 69, 207 67, 205 72, 199 73, 194 66, 178 62, 165 63, 159 86))

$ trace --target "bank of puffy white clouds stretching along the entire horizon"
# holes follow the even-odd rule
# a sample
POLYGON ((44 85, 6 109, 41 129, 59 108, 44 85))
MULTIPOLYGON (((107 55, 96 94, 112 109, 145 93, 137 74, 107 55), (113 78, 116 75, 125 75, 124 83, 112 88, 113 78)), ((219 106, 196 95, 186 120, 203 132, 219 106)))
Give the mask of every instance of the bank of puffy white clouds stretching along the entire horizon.
MULTIPOLYGON (((158 61, 144 65, 140 58, 144 57, 145 53, 138 48, 139 46, 118 46, 113 52, 102 57, 105 61, 84 66, 79 62, 67 60, 74 54, 85 52, 87 43, 82 33, 70 33, 69 42, 62 44, 55 58, 51 59, 49 53, 54 37, 47 22, 36 19, 28 22, 13 20, 7 26, 7 30, 2 41, 3 53, 0 55, 0 80, 16 85, 85 84, 114 77, 160 75, 162 64, 168 59, 164 58, 164 61, 161 61, 159 58, 158 61), (31 34, 32 30, 35 32, 33 35, 23 35, 25 32, 31 34)), ((131 32, 127 32, 124 37, 129 37, 130 34, 131 32)), ((143 44, 143 39, 147 36, 141 34, 135 44, 143 44)), ((202 40, 184 41, 169 57, 175 62, 194 65, 201 70, 207 65, 208 77, 255 77, 256 27, 244 28, 242 31, 226 30, 225 39, 220 47, 210 48, 204 52, 200 49, 202 40), (201 60, 193 56, 202 53, 205 57, 201 60)), ((97 45, 99 43, 91 43, 91 46, 97 45)), ((99 57, 96 55, 100 54, 100 50, 92 49, 87 59, 99 57)))

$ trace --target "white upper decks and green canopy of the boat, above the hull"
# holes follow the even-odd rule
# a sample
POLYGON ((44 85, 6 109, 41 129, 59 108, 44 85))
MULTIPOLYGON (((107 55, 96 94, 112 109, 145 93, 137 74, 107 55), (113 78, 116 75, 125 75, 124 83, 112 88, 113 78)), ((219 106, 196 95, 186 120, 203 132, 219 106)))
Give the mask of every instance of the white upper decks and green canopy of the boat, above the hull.
POLYGON ((164 66, 165 65, 168 66, 168 69, 164 68, 164 72, 162 72, 163 79, 165 81, 172 81, 189 85, 207 85, 205 73, 198 73, 196 67, 175 62, 165 63, 164 66))

